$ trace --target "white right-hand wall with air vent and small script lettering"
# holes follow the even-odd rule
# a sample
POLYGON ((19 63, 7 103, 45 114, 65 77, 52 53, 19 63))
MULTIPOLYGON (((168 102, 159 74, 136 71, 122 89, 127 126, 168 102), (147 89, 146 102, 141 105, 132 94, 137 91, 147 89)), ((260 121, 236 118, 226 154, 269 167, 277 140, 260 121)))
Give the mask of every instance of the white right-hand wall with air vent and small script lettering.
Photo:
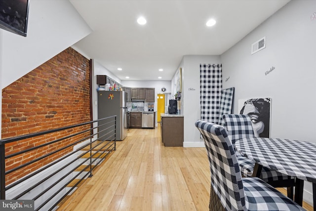
MULTIPOLYGON (((273 138, 316 142, 314 12, 315 0, 292 0, 221 55, 223 87, 235 87, 234 113, 238 99, 272 98, 273 138), (251 44, 264 36, 266 48, 251 55, 251 44)), ((304 200, 310 203, 311 193, 305 182, 304 200)))

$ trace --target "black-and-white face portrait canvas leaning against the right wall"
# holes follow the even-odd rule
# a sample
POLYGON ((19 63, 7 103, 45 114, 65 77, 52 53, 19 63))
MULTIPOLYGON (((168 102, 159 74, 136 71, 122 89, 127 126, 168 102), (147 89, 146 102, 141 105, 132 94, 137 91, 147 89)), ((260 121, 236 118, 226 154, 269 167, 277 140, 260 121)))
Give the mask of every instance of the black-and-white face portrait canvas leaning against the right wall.
POLYGON ((256 137, 270 137, 270 97, 238 100, 238 114, 250 116, 251 125, 256 137))

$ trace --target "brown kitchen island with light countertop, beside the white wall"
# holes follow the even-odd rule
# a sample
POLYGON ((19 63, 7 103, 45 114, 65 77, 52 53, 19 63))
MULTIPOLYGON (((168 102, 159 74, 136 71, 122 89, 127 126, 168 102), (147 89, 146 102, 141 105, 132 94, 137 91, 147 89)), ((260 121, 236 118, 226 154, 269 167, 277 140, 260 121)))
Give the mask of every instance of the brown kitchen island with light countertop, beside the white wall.
POLYGON ((161 141, 166 147, 182 147, 184 140, 183 115, 160 114, 161 141))

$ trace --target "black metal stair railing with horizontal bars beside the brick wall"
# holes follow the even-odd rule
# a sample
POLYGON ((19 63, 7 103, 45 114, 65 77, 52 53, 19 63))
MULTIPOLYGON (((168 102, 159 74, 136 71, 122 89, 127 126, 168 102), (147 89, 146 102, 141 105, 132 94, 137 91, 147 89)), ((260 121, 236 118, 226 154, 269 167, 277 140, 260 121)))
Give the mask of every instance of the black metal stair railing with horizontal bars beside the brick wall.
POLYGON ((113 150, 116 150, 116 129, 117 116, 111 116, 73 126, 0 140, 0 199, 34 200, 35 211, 51 211, 55 209, 67 195, 74 191, 83 179, 92 176, 92 170, 106 159, 113 150), (94 127, 94 124, 97 126, 94 127), (74 128, 78 129, 81 127, 84 127, 84 129, 72 133, 74 128), (65 135, 60 137, 61 133, 65 133, 65 135), (8 155, 5 154, 5 149, 8 144, 10 144, 10 146, 12 146, 14 142, 21 144, 21 141, 42 137, 44 135, 56 138, 38 146, 29 147, 11 154, 8 153, 8 155), (98 138, 95 138, 96 136, 98 136, 98 138), (53 148, 66 139, 71 140, 69 144, 60 144, 61 147, 53 148), (74 149, 75 146, 77 147, 76 149, 74 149), (31 152, 36 154, 36 152, 44 148, 47 149, 47 147, 52 147, 53 150, 50 150, 50 152, 44 155, 34 156, 32 160, 12 169, 6 169, 5 163, 9 161, 9 159, 31 152), (65 150, 68 150, 68 153, 60 155, 65 150), (44 159, 54 155, 58 156, 58 158, 53 162, 49 162, 45 166, 33 170, 33 172, 22 178, 10 184, 6 184, 6 177, 9 176, 10 173, 31 167, 32 164, 35 165, 35 163, 44 161, 44 159), (84 168, 76 171, 82 166, 84 168), (73 181, 75 181, 75 184, 67 191, 67 185, 73 181), (7 197, 8 192, 10 192, 10 197, 7 197))

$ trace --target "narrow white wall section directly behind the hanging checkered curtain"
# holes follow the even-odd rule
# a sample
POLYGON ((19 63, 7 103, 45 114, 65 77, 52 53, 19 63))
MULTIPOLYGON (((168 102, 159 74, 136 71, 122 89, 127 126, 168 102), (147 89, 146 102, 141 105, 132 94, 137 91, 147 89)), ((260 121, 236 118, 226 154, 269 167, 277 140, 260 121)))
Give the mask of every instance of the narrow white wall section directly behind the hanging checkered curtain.
POLYGON ((200 119, 200 64, 221 64, 220 56, 186 55, 182 67, 181 101, 184 115, 184 147, 204 147, 195 122, 200 119))

